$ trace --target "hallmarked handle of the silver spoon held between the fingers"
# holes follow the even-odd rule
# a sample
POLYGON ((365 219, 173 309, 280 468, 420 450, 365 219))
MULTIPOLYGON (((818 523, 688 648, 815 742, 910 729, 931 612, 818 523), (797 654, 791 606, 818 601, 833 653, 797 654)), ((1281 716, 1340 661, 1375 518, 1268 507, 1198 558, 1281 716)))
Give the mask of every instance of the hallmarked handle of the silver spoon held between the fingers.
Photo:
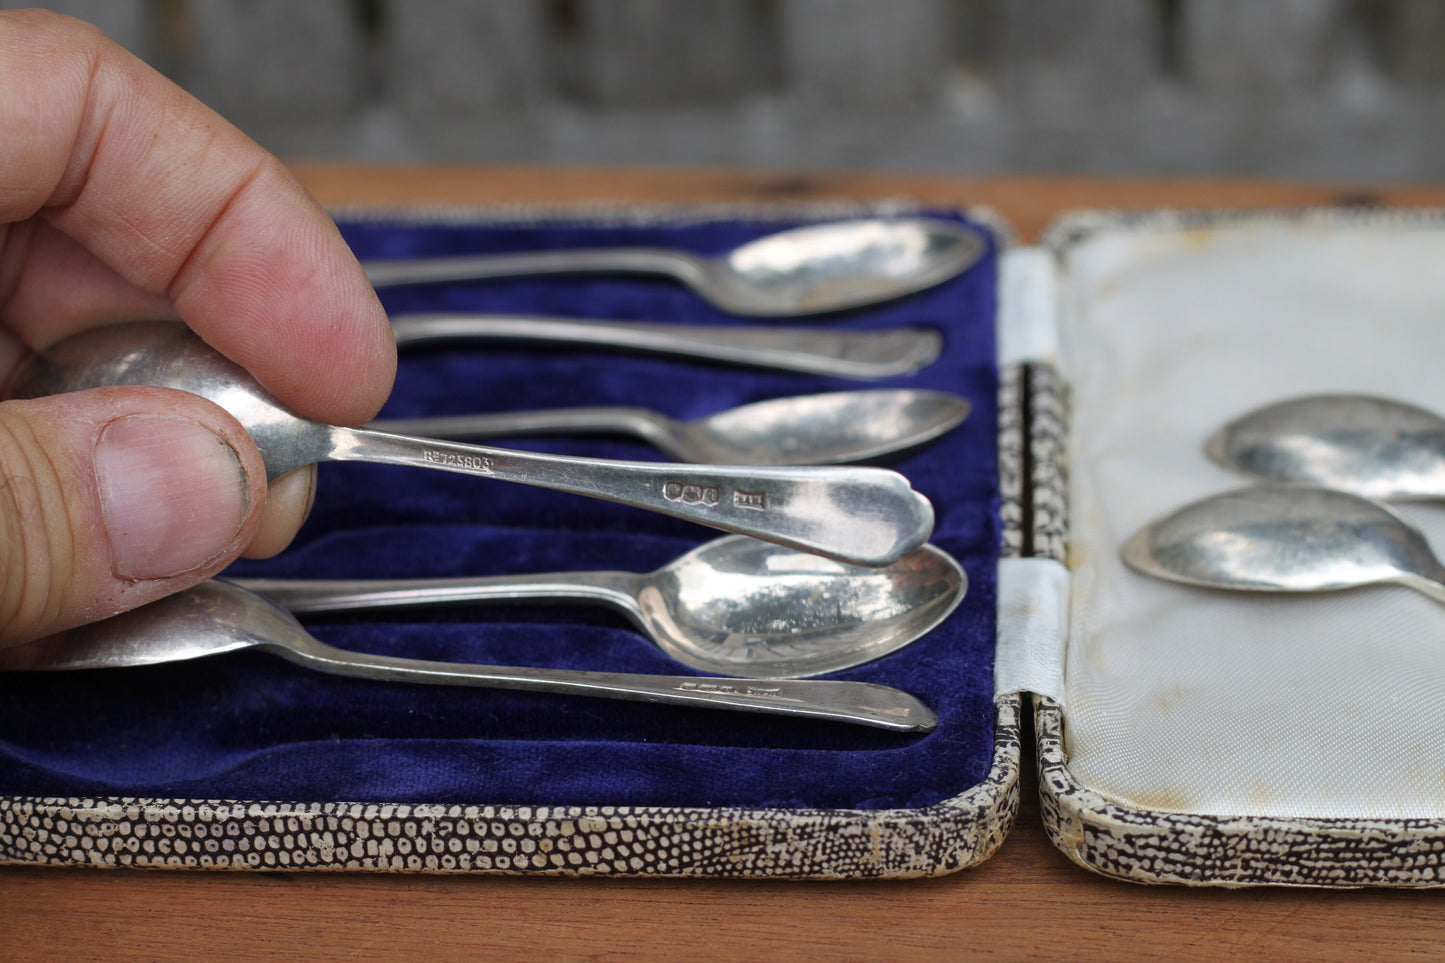
POLYGON ((896 471, 873 467, 686 466, 512 451, 332 428, 331 461, 474 474, 620 502, 725 532, 887 565, 928 541, 933 508, 896 471))

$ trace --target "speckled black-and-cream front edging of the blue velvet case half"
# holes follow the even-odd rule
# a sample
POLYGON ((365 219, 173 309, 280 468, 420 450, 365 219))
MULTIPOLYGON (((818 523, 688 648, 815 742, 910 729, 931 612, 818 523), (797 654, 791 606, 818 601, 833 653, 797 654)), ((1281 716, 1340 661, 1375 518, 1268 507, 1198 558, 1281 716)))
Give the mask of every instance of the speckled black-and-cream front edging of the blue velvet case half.
POLYGON ((1017 696, 988 778, 919 810, 0 798, 0 863, 907 879, 974 866, 1019 811, 1017 696))

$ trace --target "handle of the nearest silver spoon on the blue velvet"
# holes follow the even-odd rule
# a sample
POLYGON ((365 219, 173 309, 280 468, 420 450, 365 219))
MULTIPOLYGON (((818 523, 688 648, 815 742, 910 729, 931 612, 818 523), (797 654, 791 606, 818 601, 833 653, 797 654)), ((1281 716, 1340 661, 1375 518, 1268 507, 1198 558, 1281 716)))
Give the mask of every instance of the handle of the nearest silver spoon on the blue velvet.
POLYGON ((264 645, 292 662, 321 672, 392 682, 477 685, 670 706, 698 706, 825 719, 894 732, 932 732, 938 726, 938 716, 916 697, 873 682, 753 681, 705 675, 642 675, 429 662, 350 652, 311 638, 296 639, 286 645, 275 642, 264 645))

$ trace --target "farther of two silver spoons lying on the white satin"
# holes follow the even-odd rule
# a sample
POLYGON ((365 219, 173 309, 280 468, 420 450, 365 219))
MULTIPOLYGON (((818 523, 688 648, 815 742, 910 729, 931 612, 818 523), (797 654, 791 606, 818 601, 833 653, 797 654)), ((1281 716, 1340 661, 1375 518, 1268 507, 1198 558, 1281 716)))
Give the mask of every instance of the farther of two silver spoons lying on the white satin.
POLYGON ((1374 499, 1445 497, 1445 421, 1368 395, 1311 395, 1259 408, 1205 451, 1227 468, 1374 499))

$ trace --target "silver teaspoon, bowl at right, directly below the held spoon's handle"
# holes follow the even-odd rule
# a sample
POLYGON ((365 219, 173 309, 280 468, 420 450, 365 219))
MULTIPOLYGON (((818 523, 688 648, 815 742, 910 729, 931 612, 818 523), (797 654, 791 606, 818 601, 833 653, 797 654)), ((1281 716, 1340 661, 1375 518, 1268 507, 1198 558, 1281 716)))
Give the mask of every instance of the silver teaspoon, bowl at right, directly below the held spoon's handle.
POLYGON ((863 568, 740 535, 711 541, 649 574, 231 581, 292 612, 600 602, 631 617, 679 662, 746 678, 801 678, 871 662, 936 628, 968 587, 958 562, 932 545, 886 568, 863 568))

